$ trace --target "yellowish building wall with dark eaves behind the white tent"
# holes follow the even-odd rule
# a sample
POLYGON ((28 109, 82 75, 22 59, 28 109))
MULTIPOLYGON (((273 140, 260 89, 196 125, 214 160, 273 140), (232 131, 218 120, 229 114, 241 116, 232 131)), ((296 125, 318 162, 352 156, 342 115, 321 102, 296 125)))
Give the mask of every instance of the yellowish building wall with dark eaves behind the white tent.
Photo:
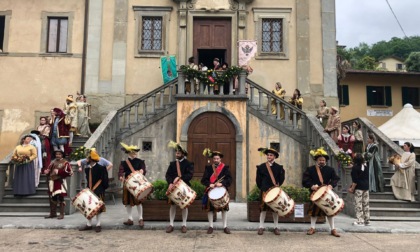
MULTIPOLYGON (((368 109, 392 110, 396 115, 403 108, 401 87, 418 87, 419 77, 403 75, 350 75, 342 81, 342 85, 349 86, 349 106, 340 107, 341 121, 347 121, 356 117, 366 117, 376 127, 381 126, 391 119, 391 116, 367 116, 368 109), (379 107, 367 106, 366 86, 391 86, 392 106, 379 107)), ((416 108, 420 112, 420 108, 416 108)))

